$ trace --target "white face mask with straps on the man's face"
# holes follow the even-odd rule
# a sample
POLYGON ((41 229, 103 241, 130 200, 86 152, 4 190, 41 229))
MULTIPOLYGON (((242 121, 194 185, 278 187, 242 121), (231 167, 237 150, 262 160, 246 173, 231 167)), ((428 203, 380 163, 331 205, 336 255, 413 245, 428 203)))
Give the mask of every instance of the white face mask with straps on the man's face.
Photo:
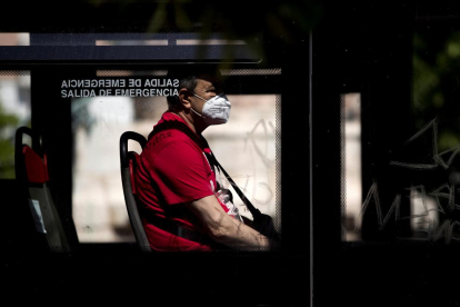
POLYGON ((196 93, 193 93, 193 96, 206 101, 206 103, 203 105, 203 109, 201 111, 202 115, 191 109, 196 115, 201 117, 206 123, 220 125, 226 123, 229 120, 231 105, 230 101, 227 99, 226 95, 221 93, 216 97, 212 97, 209 100, 206 100, 204 98, 199 97, 196 93))

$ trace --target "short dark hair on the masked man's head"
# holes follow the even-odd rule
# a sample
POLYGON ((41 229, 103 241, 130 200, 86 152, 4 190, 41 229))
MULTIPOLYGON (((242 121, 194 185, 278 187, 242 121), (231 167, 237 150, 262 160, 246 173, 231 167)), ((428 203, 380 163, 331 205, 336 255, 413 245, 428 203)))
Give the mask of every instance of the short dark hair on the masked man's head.
MULTIPOLYGON (((194 92, 197 79, 203 75, 219 76, 220 70, 213 65, 184 65, 168 69, 168 79, 178 79, 179 89, 186 88, 190 92, 194 92)), ((168 107, 170 110, 180 109, 181 102, 179 96, 168 96, 168 107)))

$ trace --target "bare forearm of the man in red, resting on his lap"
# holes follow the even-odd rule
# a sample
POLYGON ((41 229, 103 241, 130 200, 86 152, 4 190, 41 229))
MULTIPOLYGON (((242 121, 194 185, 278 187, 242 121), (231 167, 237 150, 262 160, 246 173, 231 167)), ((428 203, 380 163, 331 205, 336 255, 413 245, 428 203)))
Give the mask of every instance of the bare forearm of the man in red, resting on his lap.
POLYGON ((242 250, 269 250, 273 245, 266 236, 227 215, 213 195, 194 200, 189 207, 220 244, 242 250))

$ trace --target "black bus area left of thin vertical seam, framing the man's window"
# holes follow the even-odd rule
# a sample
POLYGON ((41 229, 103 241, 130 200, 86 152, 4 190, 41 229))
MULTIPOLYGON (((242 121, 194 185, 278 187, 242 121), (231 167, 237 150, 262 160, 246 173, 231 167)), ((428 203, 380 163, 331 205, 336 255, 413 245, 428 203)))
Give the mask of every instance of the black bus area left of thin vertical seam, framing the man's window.
MULTIPOLYGON (((274 3, 262 10, 242 1, 212 4, 207 1, 68 1, 8 3, 0 21, 2 31, 33 33, 91 32, 188 32, 218 31, 229 39, 262 37, 261 63, 239 63, 232 68, 281 68, 274 87, 268 78, 241 77, 230 83, 244 92, 281 92, 281 155, 302 159, 296 168, 281 167, 283 247, 276 252, 152 254, 132 244, 80 244, 70 254, 50 254, 33 237, 27 197, 16 180, 2 180, 0 189, 10 204, 2 224, 6 294, 28 295, 42 301, 96 299, 119 301, 129 298, 160 306, 289 306, 308 304, 309 288, 309 29, 293 7, 274 3), (284 10, 279 13, 279 8, 284 10), (178 18, 187 12, 189 22, 178 18), (287 11, 286 11, 287 10, 287 11), (160 16, 158 16, 160 14, 160 16), (294 14, 297 26, 292 23, 294 14), (163 18, 163 19, 162 19, 163 18), (152 24, 152 20, 162 20, 152 24), (274 22, 274 23, 273 23, 274 22), (180 23, 180 24, 179 24, 180 23), (304 24, 303 24, 304 23, 304 24), (300 60, 299 60, 300 59, 300 60), (298 72, 302 78, 298 78, 298 72), (286 77, 284 77, 286 76, 286 77), (243 86, 240 86, 243 83, 243 86), (296 88, 302 89, 302 98, 296 88), (293 109, 304 118, 291 120, 293 109), (286 178, 286 179, 284 179, 286 178), (296 180, 300 178, 301 180, 296 180), (286 181, 286 184, 284 184, 286 181), (302 191, 301 198, 299 192, 302 191), (291 205, 290 205, 291 204, 291 205), (290 205, 290 206, 289 206, 290 205), (290 208, 298 207, 296 210, 290 208), (299 281, 300 280, 300 281, 299 281), (307 289, 307 293, 306 293, 307 289), (306 295, 307 294, 307 295, 306 295), (161 303, 161 304, 160 304, 161 303)), ((300 3, 299 9, 310 3, 300 3)), ((312 16, 314 16, 312 13, 312 16)), ((30 70, 32 128, 47 137, 50 188, 64 224, 71 220, 71 126, 70 101, 59 97, 63 79, 94 77, 96 69, 148 71, 170 63, 149 61, 1 61, 2 70, 30 70), (69 102, 69 103, 66 103, 69 102)), ((284 159, 284 158, 283 158, 284 159)), ((76 244, 76 241, 73 241, 76 244)), ((132 304, 129 301, 129 304, 132 304)))

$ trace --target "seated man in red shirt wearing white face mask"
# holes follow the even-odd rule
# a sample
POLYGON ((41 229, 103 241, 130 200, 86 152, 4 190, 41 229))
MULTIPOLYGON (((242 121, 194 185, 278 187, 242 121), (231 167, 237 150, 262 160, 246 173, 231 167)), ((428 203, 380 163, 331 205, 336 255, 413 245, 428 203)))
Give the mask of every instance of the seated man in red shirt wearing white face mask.
POLYGON ((242 222, 202 131, 227 122, 230 102, 218 70, 196 67, 169 73, 179 95, 153 127, 140 155, 137 194, 153 250, 269 250, 273 242, 242 222))

